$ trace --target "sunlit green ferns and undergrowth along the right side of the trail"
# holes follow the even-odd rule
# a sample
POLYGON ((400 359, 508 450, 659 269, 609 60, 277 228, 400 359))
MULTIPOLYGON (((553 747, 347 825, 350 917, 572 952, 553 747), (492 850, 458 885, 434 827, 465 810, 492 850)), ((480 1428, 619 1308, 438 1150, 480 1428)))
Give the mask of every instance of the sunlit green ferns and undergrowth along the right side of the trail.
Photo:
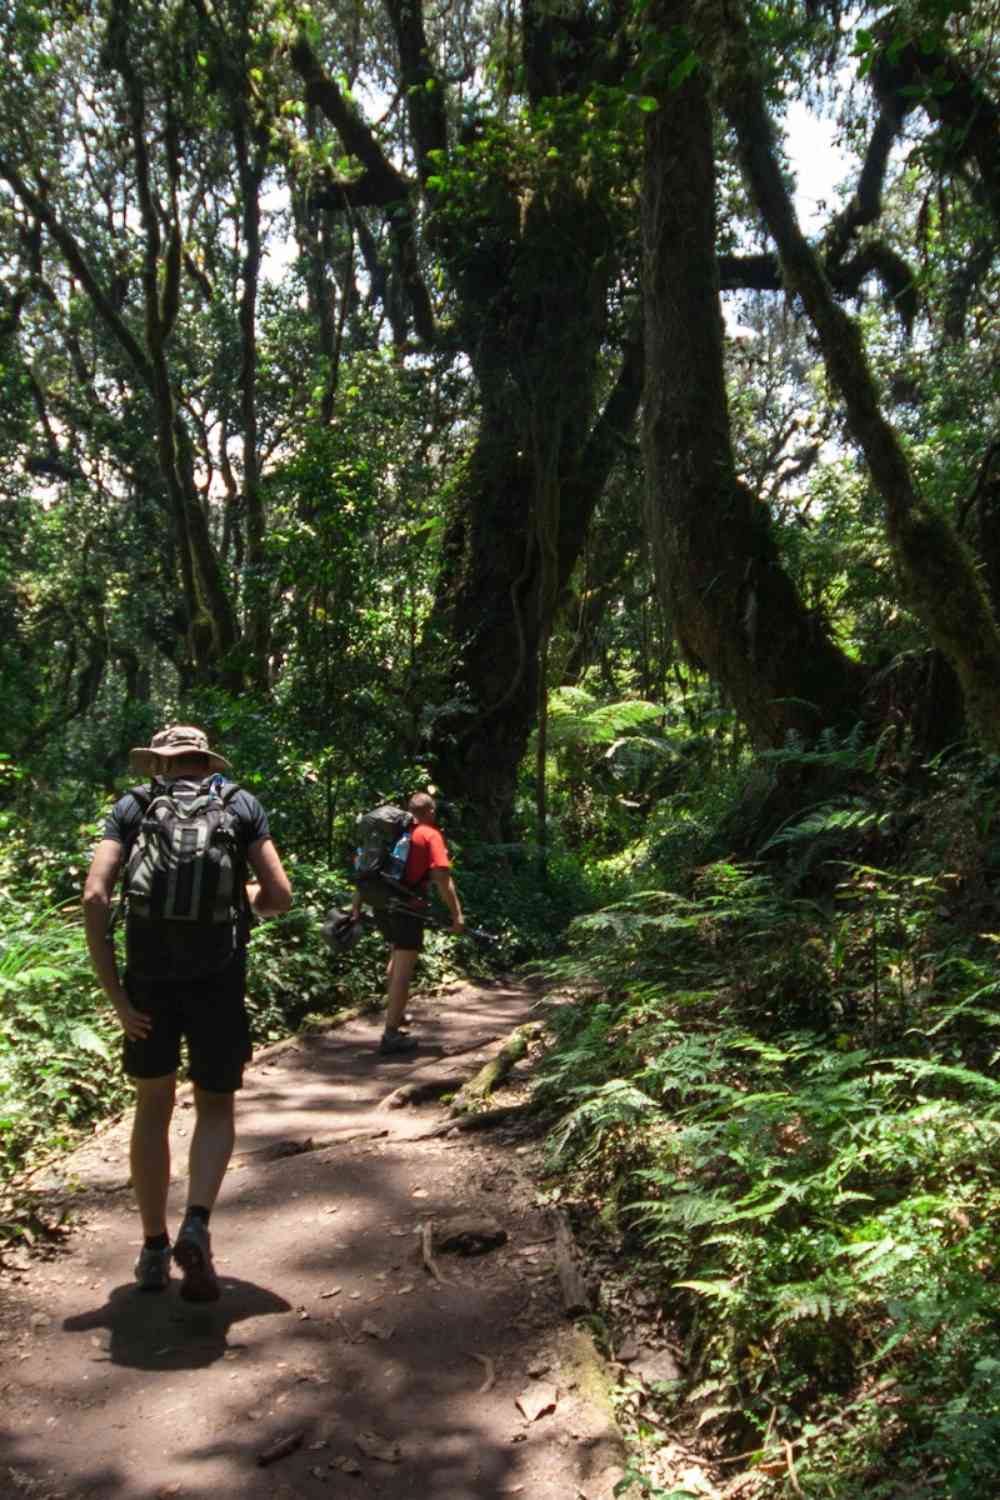
POLYGON ((604 986, 552 1023, 549 1192, 685 1350, 649 1494, 663 1424, 750 1494, 1000 1492, 993 774, 931 777, 891 868, 856 796, 786 830, 808 880, 717 861, 549 966, 604 986))

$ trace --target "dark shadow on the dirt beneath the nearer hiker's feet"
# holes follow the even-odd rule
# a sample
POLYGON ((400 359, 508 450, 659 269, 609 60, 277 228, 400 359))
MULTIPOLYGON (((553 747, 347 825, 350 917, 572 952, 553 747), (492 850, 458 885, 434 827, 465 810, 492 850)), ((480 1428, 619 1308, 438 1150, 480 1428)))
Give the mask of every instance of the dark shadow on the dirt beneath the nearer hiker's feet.
POLYGON ((127 1365, 132 1370, 204 1370, 222 1359, 229 1329, 244 1318, 289 1312, 291 1304, 252 1281, 222 1278, 222 1299, 213 1304, 181 1302, 177 1282, 168 1292, 136 1292, 115 1287, 108 1300, 91 1312, 63 1322, 67 1334, 108 1329, 108 1340, 94 1348, 94 1364, 127 1365))

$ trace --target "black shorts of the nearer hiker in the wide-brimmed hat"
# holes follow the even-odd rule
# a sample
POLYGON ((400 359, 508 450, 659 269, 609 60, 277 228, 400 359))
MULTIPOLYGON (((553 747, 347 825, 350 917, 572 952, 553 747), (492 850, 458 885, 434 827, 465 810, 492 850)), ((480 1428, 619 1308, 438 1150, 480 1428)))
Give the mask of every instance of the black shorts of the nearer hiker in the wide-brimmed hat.
POLYGON ((243 1066, 253 1053, 246 1014, 246 948, 204 980, 135 980, 126 974, 124 987, 135 1008, 153 1017, 148 1036, 124 1041, 123 1066, 130 1078, 175 1072, 183 1036, 193 1083, 211 1094, 243 1088, 243 1066))

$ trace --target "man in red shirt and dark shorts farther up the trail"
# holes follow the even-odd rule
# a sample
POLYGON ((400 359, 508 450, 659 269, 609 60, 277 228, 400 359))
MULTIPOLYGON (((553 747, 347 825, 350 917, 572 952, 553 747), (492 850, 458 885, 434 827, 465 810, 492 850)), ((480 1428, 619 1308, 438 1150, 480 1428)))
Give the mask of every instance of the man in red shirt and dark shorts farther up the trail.
MULTIPOLYGON (((409 1000, 409 982, 414 975, 414 966, 420 956, 420 950, 424 945, 424 922, 420 920, 418 914, 426 906, 427 891, 432 884, 441 900, 451 912, 451 932, 465 932, 462 903, 459 902, 459 892, 456 891, 454 880, 451 879, 448 849, 441 831, 435 828, 435 800, 426 792, 417 792, 409 798, 406 807, 415 819, 409 836, 406 868, 403 870, 402 878, 402 884, 406 888, 406 897, 400 898, 399 903, 390 904, 388 908, 375 909, 378 928, 382 936, 388 939, 393 950, 387 969, 388 1005, 385 1010, 385 1030, 378 1048, 382 1056, 417 1050, 417 1041, 400 1032, 399 1023, 403 1018, 406 1002, 409 1000), (412 908, 412 914, 405 909, 406 904, 412 908)), ((355 891, 354 908, 351 912, 354 921, 357 921, 361 915, 361 891, 355 891)))

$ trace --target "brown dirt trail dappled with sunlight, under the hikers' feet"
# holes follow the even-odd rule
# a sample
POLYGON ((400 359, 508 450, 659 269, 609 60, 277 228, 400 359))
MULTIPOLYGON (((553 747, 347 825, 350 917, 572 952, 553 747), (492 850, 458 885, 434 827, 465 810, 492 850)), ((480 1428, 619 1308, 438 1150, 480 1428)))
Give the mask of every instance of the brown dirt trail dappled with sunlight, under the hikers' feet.
MULTIPOLYGON (((133 1290, 127 1119, 49 1170, 79 1224, 3 1287, 4 1500, 610 1497, 621 1450, 562 1317, 552 1226, 526 1172, 535 1148, 429 1136, 441 1106, 382 1107, 430 1070, 472 1072, 537 1004, 514 986, 418 998, 423 1046, 405 1060, 378 1058, 373 1018, 261 1054, 213 1215, 216 1305, 181 1302, 177 1280, 159 1296, 133 1290), (436 1256, 438 1282, 417 1232, 460 1210, 508 1239, 436 1256), (558 1406, 526 1422, 516 1398, 544 1386, 558 1406), (294 1452, 259 1466, 297 1434, 294 1452)), ((190 1124, 181 1096, 174 1227, 190 1124)))

